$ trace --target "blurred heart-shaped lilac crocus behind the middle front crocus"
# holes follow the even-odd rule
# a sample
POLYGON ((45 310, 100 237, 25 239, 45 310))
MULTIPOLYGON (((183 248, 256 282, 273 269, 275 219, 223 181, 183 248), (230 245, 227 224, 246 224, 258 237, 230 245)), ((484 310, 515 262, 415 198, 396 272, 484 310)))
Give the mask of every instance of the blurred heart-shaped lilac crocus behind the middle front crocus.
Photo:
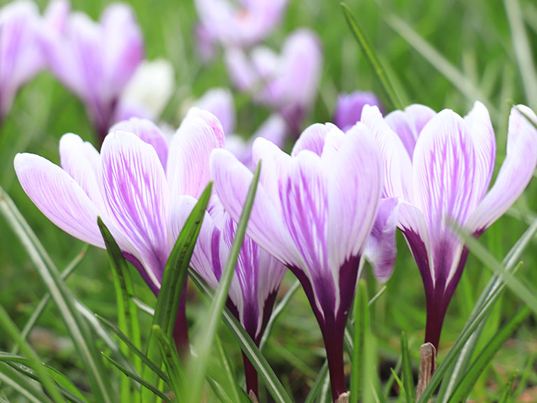
POLYGON ((280 55, 266 47, 254 48, 250 55, 230 49, 226 63, 238 90, 252 93, 255 101, 280 113, 291 132, 300 134, 315 101, 322 66, 320 40, 313 31, 294 31, 280 55))

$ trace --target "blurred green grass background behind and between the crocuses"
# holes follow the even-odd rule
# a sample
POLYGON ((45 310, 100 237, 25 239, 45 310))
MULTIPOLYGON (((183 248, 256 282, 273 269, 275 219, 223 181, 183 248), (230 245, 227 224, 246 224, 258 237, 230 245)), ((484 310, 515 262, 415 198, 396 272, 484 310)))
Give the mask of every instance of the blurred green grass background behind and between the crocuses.
MULTIPOLYGON (((5 3, 0 0, 0 6, 5 3)), ((176 70, 176 92, 162 120, 177 127, 187 107, 203 92, 216 86, 231 87, 222 57, 208 65, 201 64, 197 57, 193 36, 197 17, 192 0, 136 0, 129 3, 141 24, 148 59, 165 57, 176 70)), ((38 1, 38 4, 43 10, 46 2, 38 1)), ((73 10, 83 10, 94 19, 106 4, 108 1, 72 1, 73 10)), ((534 109, 537 107, 532 104, 537 93, 531 92, 531 75, 535 72, 527 70, 527 64, 522 63, 522 71, 526 69, 523 75, 520 58, 517 57, 517 48, 522 47, 518 50, 526 52, 530 61, 536 62, 531 55, 537 54, 537 3, 521 0, 522 20, 517 22, 515 19, 510 24, 506 10, 513 10, 513 4, 517 5, 513 0, 348 2, 405 104, 426 104, 437 111, 452 108, 464 115, 475 99, 485 102, 496 130, 496 172, 505 156, 510 106, 522 103, 534 109), (529 48, 524 48, 520 31, 513 30, 514 26, 525 28, 529 48)), ((324 50, 322 79, 308 124, 331 120, 339 92, 372 90, 380 99, 387 101, 371 66, 352 37, 337 1, 289 1, 285 19, 266 43, 275 49, 280 48, 285 36, 297 27, 316 31, 324 50)), ((537 76, 533 80, 537 80, 537 76)), ((248 136, 270 111, 254 106, 244 94, 234 95, 238 132, 248 136)), ((60 268, 69 264, 83 248, 83 243, 52 225, 24 195, 13 171, 13 157, 16 153, 27 151, 59 162, 58 141, 66 132, 75 132, 94 141, 83 105, 47 72, 22 89, 8 119, 0 128, 0 185, 13 197, 60 268)), ((480 242, 501 260, 533 219, 531 211, 534 211, 536 203, 537 183, 534 180, 510 213, 488 229, 480 242)), ((378 339, 383 380, 388 378, 389 368, 394 367, 399 356, 401 331, 405 330, 408 334, 416 366, 417 353, 424 337, 425 305, 421 278, 400 234, 398 242, 399 256, 394 276, 387 282, 386 292, 373 305, 372 326, 378 339)), ((519 274, 531 285, 537 285, 535 247, 533 242, 524 253, 524 265, 519 274)), ((41 299, 45 287, 19 241, 1 219, 0 275, 0 304, 22 327, 41 299)), ((469 257, 445 319, 440 359, 457 338, 490 275, 489 269, 476 257, 469 257)), ((375 283, 368 269, 366 278, 371 297, 382 285, 375 283)), ((141 299, 154 304, 154 297, 142 281, 137 280, 141 299)), ((282 292, 293 282, 294 278, 288 274, 282 292)), ((115 320, 112 275, 103 250, 90 247, 67 283, 93 311, 115 320)), ((189 297, 188 315, 193 320, 206 309, 206 304, 194 288, 189 289, 189 297)), ((501 302, 496 304, 485 334, 494 332, 521 304, 520 299, 506 292, 501 302)), ((148 318, 143 320, 149 325, 148 318)), ((241 369, 238 346, 224 327, 222 334, 227 351, 236 358, 238 370, 241 369)), ((537 374, 533 370, 537 355, 536 334, 532 318, 501 349, 493 360, 494 364, 482 376, 473 392, 476 400, 492 400, 499 386, 516 368, 520 369, 524 379, 520 383, 520 392, 525 392, 520 399, 533 396, 530 395, 531 388, 537 386, 537 374)), ((78 368, 73 347, 52 304, 41 318, 31 341, 45 361, 52 362, 71 379, 84 384, 84 374, 78 368)), ((8 341, 0 334, 0 350, 8 348, 8 341)), ((306 297, 299 290, 275 325, 266 357, 296 401, 301 401, 322 365, 323 354, 320 330, 306 297)), ((392 393, 396 395, 396 388, 392 393)), ((534 397, 525 401, 534 401, 534 397)))

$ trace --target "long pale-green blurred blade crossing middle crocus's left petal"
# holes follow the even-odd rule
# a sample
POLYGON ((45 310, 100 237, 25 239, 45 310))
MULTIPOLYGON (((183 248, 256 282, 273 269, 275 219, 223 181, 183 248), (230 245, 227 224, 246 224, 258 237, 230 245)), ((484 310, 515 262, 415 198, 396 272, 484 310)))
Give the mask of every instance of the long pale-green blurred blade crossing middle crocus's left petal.
POLYGON ((220 284, 215 292, 208 316, 204 320, 199 335, 195 339, 195 351, 198 357, 195 361, 189 362, 187 371, 189 374, 189 382, 188 389, 185 390, 185 395, 188 396, 188 399, 186 400, 187 402, 197 403, 201 398, 203 379, 205 379, 211 347, 213 346, 215 334, 218 330, 218 325, 220 324, 222 310, 224 309, 224 305, 227 300, 229 285, 231 285, 231 278, 233 278, 235 273, 238 253, 241 251, 241 247, 243 245, 246 225, 248 224, 248 219, 250 218, 250 212, 252 211, 252 206, 254 204, 255 192, 257 190, 257 183, 259 182, 261 165, 261 162, 257 164, 257 169, 255 170, 250 189, 248 190, 248 196, 246 197, 245 204, 243 206, 241 219, 238 221, 235 237, 233 243, 231 244, 231 249, 229 250, 229 257, 224 270, 222 271, 220 284))

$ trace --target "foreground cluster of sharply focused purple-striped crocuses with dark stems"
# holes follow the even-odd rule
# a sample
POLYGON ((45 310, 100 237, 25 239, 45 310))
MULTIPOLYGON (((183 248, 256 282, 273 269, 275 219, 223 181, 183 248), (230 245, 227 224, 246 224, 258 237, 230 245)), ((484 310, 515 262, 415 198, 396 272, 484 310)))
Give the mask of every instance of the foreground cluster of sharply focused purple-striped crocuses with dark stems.
MULTIPOLYGON (((343 332, 362 260, 369 258, 386 281, 399 227, 424 283, 425 340, 438 346, 468 255, 452 224, 479 236, 520 196, 537 164, 537 130, 529 119, 537 122, 529 108, 513 107, 507 157, 488 192, 496 141, 480 103, 466 118, 420 105, 383 118, 366 105, 346 132, 330 123, 308 127, 291 155, 255 139, 251 164, 262 161, 263 167, 229 309, 259 344, 285 269, 292 271, 320 325, 336 400, 346 390, 343 332)), ((191 264, 217 287, 252 172, 224 149, 214 115, 192 109, 170 143, 147 120, 120 122, 100 155, 66 134, 60 157, 62 168, 17 155, 22 188, 52 222, 102 248, 100 215, 154 292, 174 240, 212 178, 216 194, 191 264)), ((178 344, 184 346, 184 304, 178 318, 178 344)), ((250 369, 248 390, 257 394, 250 369)))

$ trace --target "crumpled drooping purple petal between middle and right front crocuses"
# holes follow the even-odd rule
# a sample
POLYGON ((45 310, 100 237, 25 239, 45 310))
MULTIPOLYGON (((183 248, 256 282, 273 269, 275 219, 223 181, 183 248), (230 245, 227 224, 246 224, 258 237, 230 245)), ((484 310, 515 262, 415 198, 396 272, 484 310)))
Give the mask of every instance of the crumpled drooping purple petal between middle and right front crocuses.
POLYGON ((397 199, 382 199, 364 255, 373 266, 373 274, 384 283, 392 276, 397 257, 397 199))

